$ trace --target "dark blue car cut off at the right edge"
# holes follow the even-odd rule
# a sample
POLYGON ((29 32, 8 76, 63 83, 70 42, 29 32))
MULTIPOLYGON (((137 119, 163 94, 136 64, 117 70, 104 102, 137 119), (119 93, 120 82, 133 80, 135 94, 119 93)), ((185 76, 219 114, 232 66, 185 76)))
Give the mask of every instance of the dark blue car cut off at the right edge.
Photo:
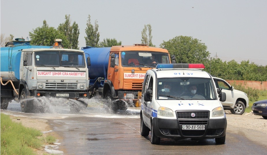
POLYGON ((253 103, 251 110, 253 110, 253 114, 260 115, 264 119, 267 119, 267 99, 253 103))

